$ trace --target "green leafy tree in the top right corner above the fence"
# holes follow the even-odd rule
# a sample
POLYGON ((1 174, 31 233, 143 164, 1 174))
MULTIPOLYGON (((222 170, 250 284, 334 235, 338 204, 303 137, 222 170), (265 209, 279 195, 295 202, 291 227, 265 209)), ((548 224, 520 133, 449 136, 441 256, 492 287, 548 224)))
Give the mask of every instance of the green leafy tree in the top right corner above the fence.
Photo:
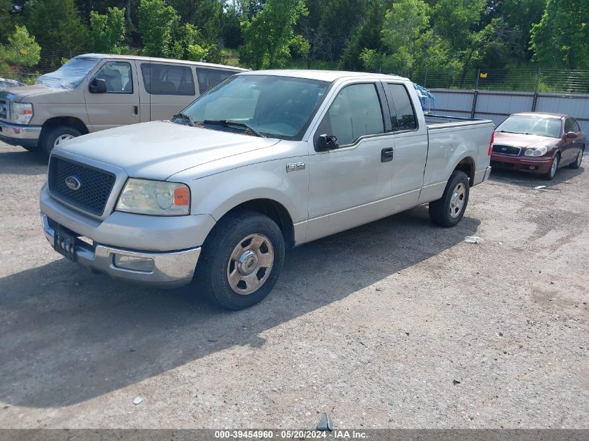
POLYGON ((532 27, 530 49, 546 67, 589 69, 589 2, 548 0, 532 27))

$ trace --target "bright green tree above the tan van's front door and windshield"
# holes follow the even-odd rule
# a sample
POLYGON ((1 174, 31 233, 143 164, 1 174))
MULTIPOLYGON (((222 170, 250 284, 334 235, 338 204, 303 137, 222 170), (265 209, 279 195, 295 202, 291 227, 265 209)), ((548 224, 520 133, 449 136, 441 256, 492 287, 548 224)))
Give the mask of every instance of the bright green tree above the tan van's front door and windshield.
POLYGON ((125 41, 125 9, 108 8, 106 14, 90 13, 90 41, 94 52, 126 54, 129 47, 125 41))

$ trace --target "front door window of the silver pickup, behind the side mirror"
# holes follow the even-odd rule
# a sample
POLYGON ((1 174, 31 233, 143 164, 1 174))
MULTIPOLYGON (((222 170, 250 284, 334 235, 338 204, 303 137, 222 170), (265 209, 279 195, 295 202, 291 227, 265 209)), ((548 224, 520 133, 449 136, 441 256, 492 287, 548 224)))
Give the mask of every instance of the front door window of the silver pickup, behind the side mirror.
POLYGON ((319 134, 337 137, 340 146, 353 144, 367 134, 383 132, 383 111, 374 84, 352 84, 343 88, 318 130, 319 134))

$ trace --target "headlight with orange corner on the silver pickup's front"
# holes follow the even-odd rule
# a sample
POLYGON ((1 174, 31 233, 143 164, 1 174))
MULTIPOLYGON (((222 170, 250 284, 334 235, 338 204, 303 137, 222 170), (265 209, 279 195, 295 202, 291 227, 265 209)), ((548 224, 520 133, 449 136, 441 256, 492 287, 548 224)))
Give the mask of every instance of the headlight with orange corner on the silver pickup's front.
POLYGON ((162 180, 129 178, 116 210, 140 215, 190 215, 190 188, 162 180))

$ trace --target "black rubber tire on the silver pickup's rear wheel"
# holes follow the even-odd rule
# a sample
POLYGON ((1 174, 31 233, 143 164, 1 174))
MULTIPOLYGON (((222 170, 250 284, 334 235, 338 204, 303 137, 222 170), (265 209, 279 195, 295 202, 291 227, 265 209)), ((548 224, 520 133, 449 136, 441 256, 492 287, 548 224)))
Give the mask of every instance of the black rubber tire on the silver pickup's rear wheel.
POLYGON ((460 219, 462 219, 462 216, 464 216, 464 211, 468 205, 468 194, 470 193, 470 189, 471 184, 466 173, 464 173, 464 171, 455 170, 450 176, 448 184, 446 184, 441 199, 429 203, 429 219, 431 219, 431 222, 445 227, 458 224, 460 219), (458 187, 459 185, 461 185, 461 187, 458 187), (461 208, 454 208, 451 205, 451 203, 454 203, 452 199, 454 189, 457 188, 462 192, 457 198, 459 201, 462 201, 461 208), (457 209, 459 210, 458 212, 456 212, 457 209))

